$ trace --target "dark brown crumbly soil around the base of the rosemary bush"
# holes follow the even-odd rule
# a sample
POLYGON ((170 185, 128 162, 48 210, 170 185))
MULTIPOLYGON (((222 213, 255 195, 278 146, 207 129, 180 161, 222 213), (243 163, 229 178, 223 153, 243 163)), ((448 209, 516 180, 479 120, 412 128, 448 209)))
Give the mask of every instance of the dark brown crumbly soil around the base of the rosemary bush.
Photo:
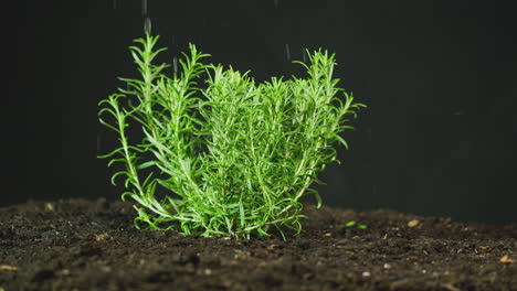
POLYGON ((136 230, 122 202, 4 207, 0 290, 517 290, 517 225, 305 214, 306 233, 284 241, 136 230), (344 227, 349 220, 368 228, 344 227))

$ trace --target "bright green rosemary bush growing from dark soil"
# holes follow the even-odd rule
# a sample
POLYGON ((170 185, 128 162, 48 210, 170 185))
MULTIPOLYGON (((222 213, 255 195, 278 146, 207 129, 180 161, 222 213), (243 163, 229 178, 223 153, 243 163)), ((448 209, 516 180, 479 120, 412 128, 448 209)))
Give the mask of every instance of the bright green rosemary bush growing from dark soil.
POLYGON ((135 41, 141 78, 120 78, 129 89, 99 103, 99 116, 114 118, 99 121, 120 142, 101 158, 124 165, 112 183, 124 176, 122 198, 139 204, 135 226, 239 238, 270 236, 272 228, 299 233, 299 198, 312 194, 320 205, 310 185, 338 162, 333 144, 348 148, 339 133, 363 106, 336 87, 334 55, 318 51, 309 64, 296 62, 308 78, 255 83, 247 73, 203 64, 208 55, 191 44, 180 73, 168 76, 168 65, 152 63, 165 50, 155 48, 157 40, 135 41), (129 128, 141 131, 140 143, 129 142, 129 128), (157 187, 169 194, 158 198, 157 187))

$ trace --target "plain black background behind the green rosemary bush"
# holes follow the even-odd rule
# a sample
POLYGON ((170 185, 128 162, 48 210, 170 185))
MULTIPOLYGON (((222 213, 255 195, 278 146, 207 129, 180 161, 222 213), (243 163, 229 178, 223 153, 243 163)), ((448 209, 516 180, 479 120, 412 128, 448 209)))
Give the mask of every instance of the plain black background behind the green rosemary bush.
MULTIPOLYGON (((503 2, 502 2, 503 3, 503 2)), ((113 134, 97 103, 135 76, 140 1, 3 7, 0 205, 106 197, 113 134), (97 151, 99 148, 99 151, 97 151)), ((189 42, 258 80, 300 74, 304 47, 337 54, 336 77, 369 106, 318 186, 330 206, 516 222, 517 24, 497 1, 166 1, 147 15, 165 61, 189 42)))

